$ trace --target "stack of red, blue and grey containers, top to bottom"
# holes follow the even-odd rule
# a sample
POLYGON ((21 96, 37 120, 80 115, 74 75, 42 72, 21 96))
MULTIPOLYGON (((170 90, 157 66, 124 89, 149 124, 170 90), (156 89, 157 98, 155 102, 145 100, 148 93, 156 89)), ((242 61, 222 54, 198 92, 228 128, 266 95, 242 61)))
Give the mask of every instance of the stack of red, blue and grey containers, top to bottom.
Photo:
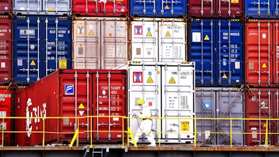
MULTIPOLYGON (((188 61, 195 61, 196 117, 244 117, 243 1, 188 0, 188 61)), ((233 121, 242 133, 244 123, 233 121)), ((229 121, 197 121, 202 144, 230 144, 229 121)), ((244 136, 232 135, 232 144, 244 136)))

